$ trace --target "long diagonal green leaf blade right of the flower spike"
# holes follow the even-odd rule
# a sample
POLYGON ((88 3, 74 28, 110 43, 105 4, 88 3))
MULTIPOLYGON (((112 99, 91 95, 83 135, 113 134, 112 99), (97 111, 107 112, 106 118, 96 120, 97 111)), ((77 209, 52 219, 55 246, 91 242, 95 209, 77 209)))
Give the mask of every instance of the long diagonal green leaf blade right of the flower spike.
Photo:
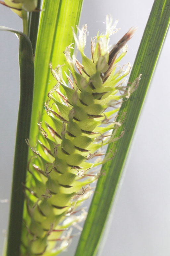
MULTIPOLYGON (((108 212, 115 198, 128 148, 169 22, 170 0, 155 0, 129 79, 130 82, 133 82, 142 73, 140 85, 130 100, 122 104, 119 112, 119 116, 123 112, 127 112, 124 121, 125 134, 123 138, 115 143, 117 153, 114 159, 102 166, 106 175, 98 180, 75 256, 96 255, 97 246, 106 223, 108 212)), ((118 130, 117 136, 119 136, 122 129, 124 129, 123 125, 118 130)), ((112 148, 113 145, 111 144, 107 152, 112 148)))

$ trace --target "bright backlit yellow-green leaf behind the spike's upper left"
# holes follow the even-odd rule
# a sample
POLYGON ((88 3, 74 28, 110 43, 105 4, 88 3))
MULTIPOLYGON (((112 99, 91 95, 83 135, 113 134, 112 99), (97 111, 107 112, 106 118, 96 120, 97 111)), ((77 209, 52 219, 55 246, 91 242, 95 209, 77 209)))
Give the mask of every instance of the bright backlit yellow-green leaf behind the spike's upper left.
MULTIPOLYGON (((51 75, 49 63, 53 67, 66 64, 63 51, 73 39, 72 28, 76 29, 83 0, 43 1, 39 33, 35 52, 35 83, 32 106, 30 143, 36 144, 39 121, 44 121, 43 109, 47 93, 56 84, 51 75)), ((63 70, 67 70, 67 64, 63 70)), ((46 115, 45 115, 46 116, 46 115)), ((50 120, 46 120, 49 121, 50 120)), ((31 153, 31 152, 30 152, 31 153)))

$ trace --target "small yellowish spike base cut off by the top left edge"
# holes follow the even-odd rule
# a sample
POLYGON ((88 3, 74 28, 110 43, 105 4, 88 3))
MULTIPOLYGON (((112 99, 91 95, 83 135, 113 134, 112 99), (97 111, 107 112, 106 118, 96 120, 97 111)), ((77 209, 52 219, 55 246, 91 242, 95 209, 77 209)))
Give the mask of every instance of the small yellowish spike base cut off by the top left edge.
POLYGON ((20 17, 22 17, 22 10, 32 12, 37 7, 37 0, 4 0, 4 2, 20 17))

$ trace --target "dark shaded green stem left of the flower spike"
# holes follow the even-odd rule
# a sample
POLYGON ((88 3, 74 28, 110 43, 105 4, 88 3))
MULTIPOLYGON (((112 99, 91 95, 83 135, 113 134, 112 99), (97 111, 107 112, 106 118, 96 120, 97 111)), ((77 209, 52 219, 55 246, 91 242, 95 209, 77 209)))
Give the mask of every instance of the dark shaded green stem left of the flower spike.
POLYGON ((25 139, 29 138, 33 98, 34 68, 32 48, 29 39, 23 35, 20 35, 19 64, 20 102, 14 157, 7 256, 20 255, 19 250, 24 204, 22 184, 25 183, 28 156, 28 145, 25 139))

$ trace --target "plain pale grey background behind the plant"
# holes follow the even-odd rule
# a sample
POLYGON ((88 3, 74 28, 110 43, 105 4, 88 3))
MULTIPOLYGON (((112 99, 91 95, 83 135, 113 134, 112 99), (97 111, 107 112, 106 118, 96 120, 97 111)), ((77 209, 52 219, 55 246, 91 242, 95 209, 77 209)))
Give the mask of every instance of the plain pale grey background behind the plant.
MULTIPOLYGON (((50 0, 49 0, 50 1, 50 0)), ((112 36, 118 41, 132 26, 138 26, 129 41, 124 62, 133 64, 153 0, 84 0, 80 26, 87 23, 91 36, 105 29, 106 14, 119 19, 121 30, 112 36)), ((0 25, 22 30, 22 21, 10 9, 0 6, 0 25)), ((157 64, 136 129, 122 188, 104 234, 103 256, 170 255, 170 161, 169 95, 170 32, 157 64)), ((85 49, 89 55, 89 44, 85 49)), ((0 32, 0 199, 10 198, 14 143, 19 101, 18 40, 14 34, 0 32)), ((7 229, 9 203, 0 203, 0 248, 7 229)), ((72 256, 77 238, 70 247, 72 256)), ((1 252, 2 249, 0 249, 1 252)), ((12 255, 11 255, 12 256, 12 255)), ((88 255, 87 255, 88 256, 88 255)))

